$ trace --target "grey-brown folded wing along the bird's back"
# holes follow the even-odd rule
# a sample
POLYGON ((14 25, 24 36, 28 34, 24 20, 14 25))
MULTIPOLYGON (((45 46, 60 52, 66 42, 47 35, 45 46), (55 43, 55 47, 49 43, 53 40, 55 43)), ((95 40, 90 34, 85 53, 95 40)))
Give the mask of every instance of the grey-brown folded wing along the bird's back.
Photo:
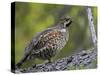
POLYGON ((33 37, 33 39, 30 41, 28 46, 25 48, 25 54, 30 53, 30 51, 32 50, 37 50, 37 49, 44 47, 45 45, 44 35, 51 31, 52 29, 49 28, 41 33, 38 33, 35 37, 33 37))

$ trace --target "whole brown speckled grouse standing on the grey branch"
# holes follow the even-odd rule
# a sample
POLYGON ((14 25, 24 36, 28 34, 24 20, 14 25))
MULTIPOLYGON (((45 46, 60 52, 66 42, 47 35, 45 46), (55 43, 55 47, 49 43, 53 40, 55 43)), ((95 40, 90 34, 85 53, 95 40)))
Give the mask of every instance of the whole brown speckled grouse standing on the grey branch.
POLYGON ((24 56, 15 65, 15 68, 18 69, 25 61, 35 58, 48 60, 48 63, 51 63, 51 58, 55 57, 67 44, 69 39, 68 28, 71 23, 71 18, 61 18, 56 25, 34 36, 26 46, 24 56))

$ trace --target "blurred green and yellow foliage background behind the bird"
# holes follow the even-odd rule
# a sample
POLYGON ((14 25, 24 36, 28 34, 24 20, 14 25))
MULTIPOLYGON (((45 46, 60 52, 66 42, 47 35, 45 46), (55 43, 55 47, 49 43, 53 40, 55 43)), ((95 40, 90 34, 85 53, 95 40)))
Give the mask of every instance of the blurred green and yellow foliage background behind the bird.
MULTIPOLYGON (((97 8, 91 7, 97 33, 97 8)), ((61 59, 93 47, 86 7, 41 3, 15 3, 15 63, 24 55, 24 49, 36 33, 55 25, 61 17, 71 17, 69 41, 53 60, 61 59)), ((13 49, 14 50, 14 49, 13 49)), ((35 63, 42 63, 40 59, 35 63)), ((32 62, 28 62, 29 65, 32 62)))

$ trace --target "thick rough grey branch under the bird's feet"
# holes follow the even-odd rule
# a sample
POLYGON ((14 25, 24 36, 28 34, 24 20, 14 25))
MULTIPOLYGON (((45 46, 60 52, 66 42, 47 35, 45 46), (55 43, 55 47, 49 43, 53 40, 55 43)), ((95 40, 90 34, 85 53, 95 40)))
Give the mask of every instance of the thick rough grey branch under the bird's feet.
MULTIPOLYGON (((63 71, 69 69, 89 68, 96 61, 97 49, 83 50, 80 53, 62 58, 53 63, 38 64, 36 67, 16 70, 16 73, 63 71)), ((91 67, 94 68, 94 67, 91 67)))

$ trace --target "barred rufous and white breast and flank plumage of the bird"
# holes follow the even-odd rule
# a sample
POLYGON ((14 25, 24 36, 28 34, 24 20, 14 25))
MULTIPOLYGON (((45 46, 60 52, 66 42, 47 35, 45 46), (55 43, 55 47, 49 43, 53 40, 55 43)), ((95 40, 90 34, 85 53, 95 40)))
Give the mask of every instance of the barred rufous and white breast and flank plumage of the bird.
POLYGON ((37 46, 34 47, 36 51, 32 55, 35 55, 37 58, 50 60, 51 57, 55 56, 65 46, 68 40, 68 34, 67 36, 65 34, 66 32, 54 29, 41 35, 37 46), (39 49, 41 46, 42 48, 39 49))

